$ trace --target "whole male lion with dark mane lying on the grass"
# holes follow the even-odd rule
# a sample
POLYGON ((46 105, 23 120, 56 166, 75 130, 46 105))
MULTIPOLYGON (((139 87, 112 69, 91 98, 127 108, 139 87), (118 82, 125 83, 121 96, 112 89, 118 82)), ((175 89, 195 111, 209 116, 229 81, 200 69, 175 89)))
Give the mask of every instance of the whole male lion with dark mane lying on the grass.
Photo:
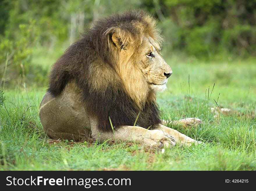
POLYGON ((98 21, 52 67, 40 105, 49 137, 158 147, 200 142, 164 126, 159 118, 156 93, 166 89, 172 74, 159 52, 160 40, 155 19, 142 11, 98 21))

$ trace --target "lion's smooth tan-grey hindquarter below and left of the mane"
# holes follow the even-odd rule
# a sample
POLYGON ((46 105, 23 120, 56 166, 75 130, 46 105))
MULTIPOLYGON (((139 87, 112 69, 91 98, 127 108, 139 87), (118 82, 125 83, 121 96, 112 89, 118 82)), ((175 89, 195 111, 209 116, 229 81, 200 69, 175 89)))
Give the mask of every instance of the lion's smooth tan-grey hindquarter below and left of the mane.
POLYGON ((81 94, 72 83, 67 84, 59 96, 47 92, 40 104, 39 116, 46 134, 52 139, 90 139, 90 119, 81 94))

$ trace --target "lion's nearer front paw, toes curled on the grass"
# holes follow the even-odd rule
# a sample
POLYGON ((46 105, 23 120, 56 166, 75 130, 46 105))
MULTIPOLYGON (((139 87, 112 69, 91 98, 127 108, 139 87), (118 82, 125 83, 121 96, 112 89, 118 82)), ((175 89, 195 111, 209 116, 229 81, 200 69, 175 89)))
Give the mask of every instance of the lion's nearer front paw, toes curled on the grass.
POLYGON ((151 130, 151 136, 145 140, 145 145, 150 147, 174 147, 176 145, 176 139, 161 131, 161 130, 151 130))

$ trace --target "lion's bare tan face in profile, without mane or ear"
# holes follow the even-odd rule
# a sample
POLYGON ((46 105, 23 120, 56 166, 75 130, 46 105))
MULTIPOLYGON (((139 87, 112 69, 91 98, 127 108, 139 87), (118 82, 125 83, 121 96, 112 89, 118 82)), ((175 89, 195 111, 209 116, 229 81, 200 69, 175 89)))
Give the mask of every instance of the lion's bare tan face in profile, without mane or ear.
POLYGON ((138 68, 154 92, 164 91, 167 79, 173 73, 159 51, 159 45, 151 37, 144 37, 136 55, 138 68))

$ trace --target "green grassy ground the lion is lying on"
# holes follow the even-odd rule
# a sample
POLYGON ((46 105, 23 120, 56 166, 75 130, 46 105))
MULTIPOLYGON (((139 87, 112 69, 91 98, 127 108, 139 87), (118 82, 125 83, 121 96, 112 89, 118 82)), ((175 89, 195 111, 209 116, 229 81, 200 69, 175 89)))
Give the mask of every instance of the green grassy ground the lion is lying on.
POLYGON ((169 64, 173 75, 157 100, 163 118, 202 119, 191 130, 169 127, 205 145, 162 153, 132 143, 49 139, 38 116, 46 88, 17 85, 4 90, 0 109, 0 170, 256 170, 253 61, 169 64))

